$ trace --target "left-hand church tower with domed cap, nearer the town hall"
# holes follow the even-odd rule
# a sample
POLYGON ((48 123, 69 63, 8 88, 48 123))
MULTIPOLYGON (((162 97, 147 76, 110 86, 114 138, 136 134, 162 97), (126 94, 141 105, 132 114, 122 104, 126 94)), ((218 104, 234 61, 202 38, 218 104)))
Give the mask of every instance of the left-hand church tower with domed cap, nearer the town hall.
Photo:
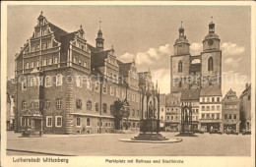
POLYGON ((189 75, 190 68, 190 52, 189 42, 184 34, 184 28, 178 29, 179 37, 175 40, 173 45, 174 54, 170 57, 170 90, 171 92, 178 92, 181 89, 188 88, 188 83, 185 78, 189 75))

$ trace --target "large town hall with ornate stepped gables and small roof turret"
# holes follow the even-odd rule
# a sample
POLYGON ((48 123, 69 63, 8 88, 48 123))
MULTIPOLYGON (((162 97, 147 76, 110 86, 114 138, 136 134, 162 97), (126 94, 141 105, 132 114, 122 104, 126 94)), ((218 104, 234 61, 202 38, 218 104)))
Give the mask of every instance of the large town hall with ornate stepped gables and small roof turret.
POLYGON ((114 131, 114 101, 129 103, 123 127, 139 130, 141 93, 135 62, 116 59, 104 49, 99 28, 96 46, 87 42, 82 26, 67 32, 41 13, 32 37, 16 55, 15 131, 25 125, 24 114, 40 113, 43 131, 50 134, 91 134, 114 131))

